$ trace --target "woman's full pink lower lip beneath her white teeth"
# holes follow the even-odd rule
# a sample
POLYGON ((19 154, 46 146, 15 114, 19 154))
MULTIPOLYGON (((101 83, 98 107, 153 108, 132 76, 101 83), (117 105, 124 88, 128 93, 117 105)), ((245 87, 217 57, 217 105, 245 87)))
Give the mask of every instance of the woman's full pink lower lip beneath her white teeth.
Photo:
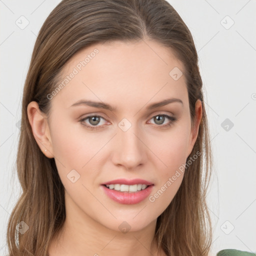
POLYGON ((106 195, 116 202, 122 204, 135 204, 144 200, 152 191, 153 185, 147 186, 145 189, 136 192, 121 192, 114 189, 109 189, 105 185, 101 185, 106 195))

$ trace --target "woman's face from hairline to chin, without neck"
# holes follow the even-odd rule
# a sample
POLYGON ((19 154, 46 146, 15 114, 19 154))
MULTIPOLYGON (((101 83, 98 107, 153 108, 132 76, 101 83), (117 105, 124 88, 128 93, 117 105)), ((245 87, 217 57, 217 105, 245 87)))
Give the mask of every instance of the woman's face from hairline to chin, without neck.
MULTIPOLYGON (((198 131, 191 129, 182 70, 168 48, 149 40, 94 44, 66 63, 60 90, 47 95, 46 148, 69 214, 135 231, 168 206, 198 131)), ((198 116, 200 108, 199 101, 198 116)))

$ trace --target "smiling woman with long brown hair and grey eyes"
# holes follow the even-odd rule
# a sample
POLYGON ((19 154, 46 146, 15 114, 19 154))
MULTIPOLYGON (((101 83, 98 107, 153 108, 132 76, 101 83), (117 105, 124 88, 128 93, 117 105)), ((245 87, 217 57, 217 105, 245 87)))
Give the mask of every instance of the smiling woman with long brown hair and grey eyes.
POLYGON ((164 0, 62 0, 52 10, 24 85, 11 256, 208 255, 197 61, 164 0))

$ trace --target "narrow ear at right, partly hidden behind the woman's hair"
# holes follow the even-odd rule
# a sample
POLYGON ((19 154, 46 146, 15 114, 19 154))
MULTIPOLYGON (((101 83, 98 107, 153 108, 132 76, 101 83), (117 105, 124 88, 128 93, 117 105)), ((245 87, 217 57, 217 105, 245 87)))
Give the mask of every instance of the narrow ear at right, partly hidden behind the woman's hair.
POLYGON ((194 117, 194 126, 191 126, 190 136, 189 136, 189 144, 188 144, 188 155, 191 153, 194 143, 196 141, 198 130, 199 130, 199 124, 201 122, 202 117, 202 104, 201 100, 197 99, 195 102, 195 117, 194 117))

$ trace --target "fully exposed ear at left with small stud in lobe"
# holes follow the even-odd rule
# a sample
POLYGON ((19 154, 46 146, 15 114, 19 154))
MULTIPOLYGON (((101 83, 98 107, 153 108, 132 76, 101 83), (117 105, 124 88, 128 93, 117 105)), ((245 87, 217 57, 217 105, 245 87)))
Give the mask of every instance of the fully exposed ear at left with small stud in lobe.
POLYGON ((27 105, 27 115, 33 136, 41 151, 48 158, 53 158, 53 147, 50 138, 47 116, 41 112, 37 102, 35 101, 31 101, 27 105))

